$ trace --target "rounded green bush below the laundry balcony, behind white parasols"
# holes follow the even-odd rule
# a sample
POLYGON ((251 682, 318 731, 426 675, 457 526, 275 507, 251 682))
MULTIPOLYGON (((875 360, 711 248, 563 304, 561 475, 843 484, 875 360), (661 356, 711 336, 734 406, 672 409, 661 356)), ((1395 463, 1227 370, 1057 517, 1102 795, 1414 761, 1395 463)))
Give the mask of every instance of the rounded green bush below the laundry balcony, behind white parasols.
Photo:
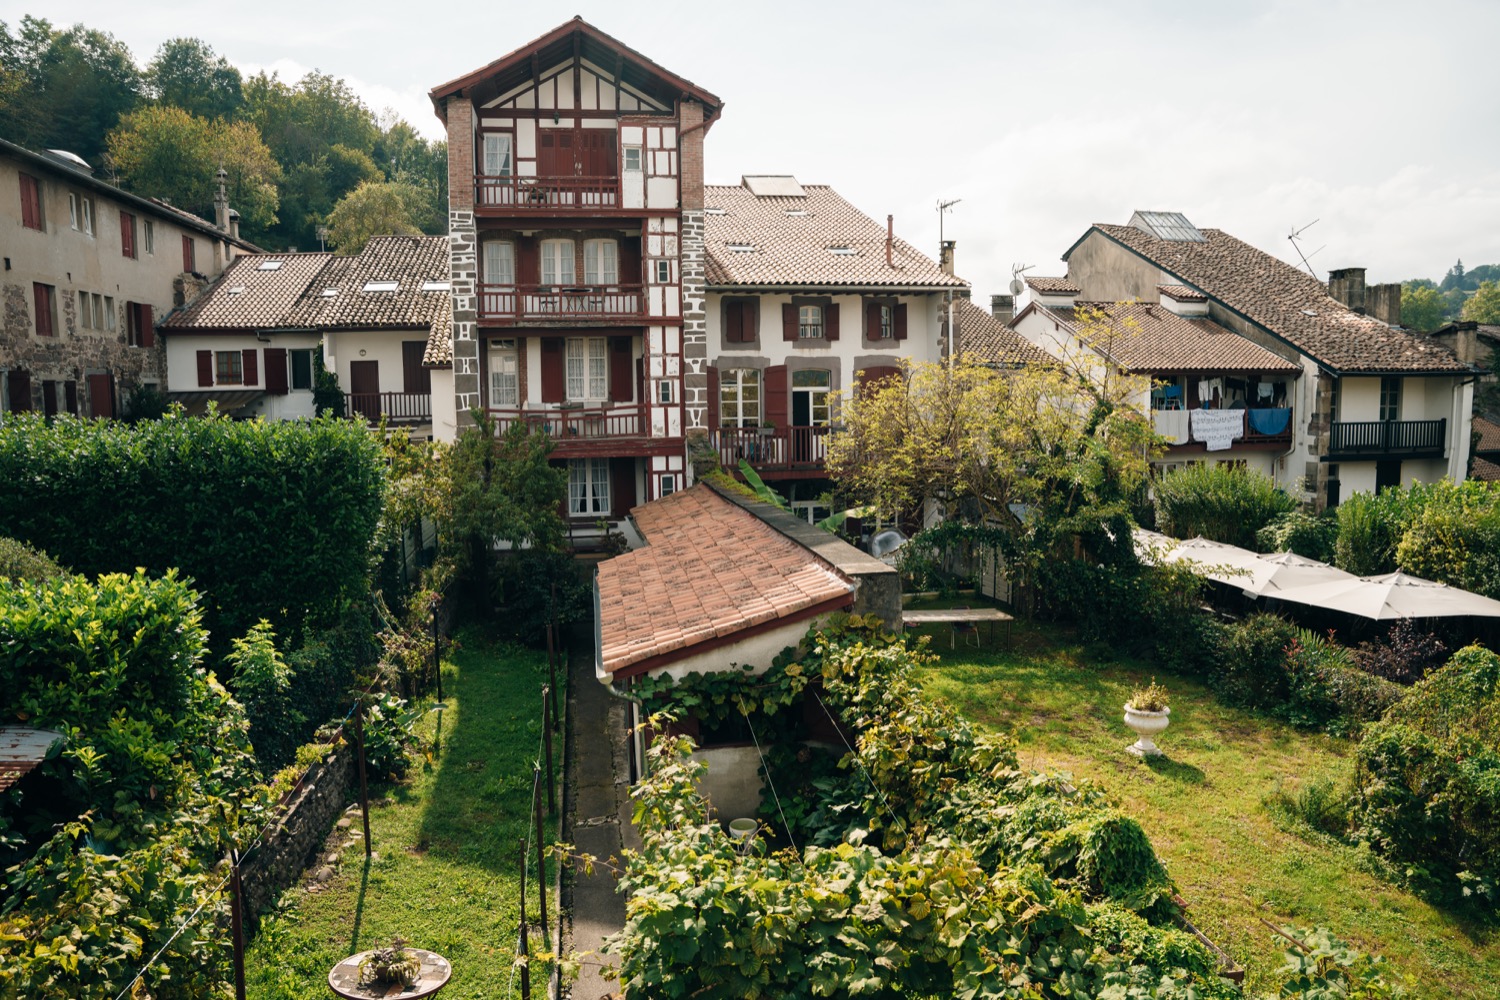
POLYGON ((1256 546, 1256 532, 1296 510, 1296 501, 1269 475, 1206 462, 1162 475, 1152 496, 1160 531, 1245 549, 1256 546))

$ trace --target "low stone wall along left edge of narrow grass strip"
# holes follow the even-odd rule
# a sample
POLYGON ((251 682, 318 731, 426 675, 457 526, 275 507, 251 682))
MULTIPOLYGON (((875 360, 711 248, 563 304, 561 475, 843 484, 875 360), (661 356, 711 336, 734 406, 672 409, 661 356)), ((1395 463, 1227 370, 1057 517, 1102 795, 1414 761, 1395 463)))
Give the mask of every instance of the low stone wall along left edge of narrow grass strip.
POLYGON ((240 868, 248 921, 256 922, 276 895, 302 877, 354 798, 357 781, 354 745, 342 742, 315 763, 297 793, 282 802, 279 822, 240 868))

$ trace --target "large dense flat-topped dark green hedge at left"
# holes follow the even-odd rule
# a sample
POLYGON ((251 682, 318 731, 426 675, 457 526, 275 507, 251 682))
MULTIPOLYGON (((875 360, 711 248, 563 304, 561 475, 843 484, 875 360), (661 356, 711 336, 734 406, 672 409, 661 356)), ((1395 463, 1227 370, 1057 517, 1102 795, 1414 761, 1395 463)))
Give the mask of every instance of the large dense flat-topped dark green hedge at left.
POLYGON ((177 568, 228 651, 262 618, 294 637, 364 588, 384 472, 352 421, 18 414, 0 483, 0 534, 87 574, 177 568))

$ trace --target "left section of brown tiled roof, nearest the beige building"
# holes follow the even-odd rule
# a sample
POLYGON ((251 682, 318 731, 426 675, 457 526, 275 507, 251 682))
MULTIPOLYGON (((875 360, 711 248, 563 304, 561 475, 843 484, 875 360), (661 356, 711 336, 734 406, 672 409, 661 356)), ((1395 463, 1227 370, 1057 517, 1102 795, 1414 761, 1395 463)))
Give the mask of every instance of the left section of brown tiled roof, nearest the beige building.
POLYGON ((286 316, 332 253, 256 253, 236 258, 219 280, 162 321, 166 330, 260 330, 286 316), (267 264, 274 268, 267 270, 267 264))

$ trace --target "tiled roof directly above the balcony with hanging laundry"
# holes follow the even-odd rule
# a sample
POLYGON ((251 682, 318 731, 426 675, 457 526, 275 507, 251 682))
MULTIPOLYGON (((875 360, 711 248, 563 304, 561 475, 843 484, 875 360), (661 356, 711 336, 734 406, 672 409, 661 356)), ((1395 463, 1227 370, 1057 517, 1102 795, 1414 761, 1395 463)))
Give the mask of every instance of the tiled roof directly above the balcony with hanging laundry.
POLYGON ((1095 340, 1100 354, 1131 372, 1298 372, 1300 366, 1272 354, 1212 319, 1179 316, 1155 303, 1077 303, 1047 309, 1072 327, 1077 309, 1100 309, 1118 336, 1095 340))

